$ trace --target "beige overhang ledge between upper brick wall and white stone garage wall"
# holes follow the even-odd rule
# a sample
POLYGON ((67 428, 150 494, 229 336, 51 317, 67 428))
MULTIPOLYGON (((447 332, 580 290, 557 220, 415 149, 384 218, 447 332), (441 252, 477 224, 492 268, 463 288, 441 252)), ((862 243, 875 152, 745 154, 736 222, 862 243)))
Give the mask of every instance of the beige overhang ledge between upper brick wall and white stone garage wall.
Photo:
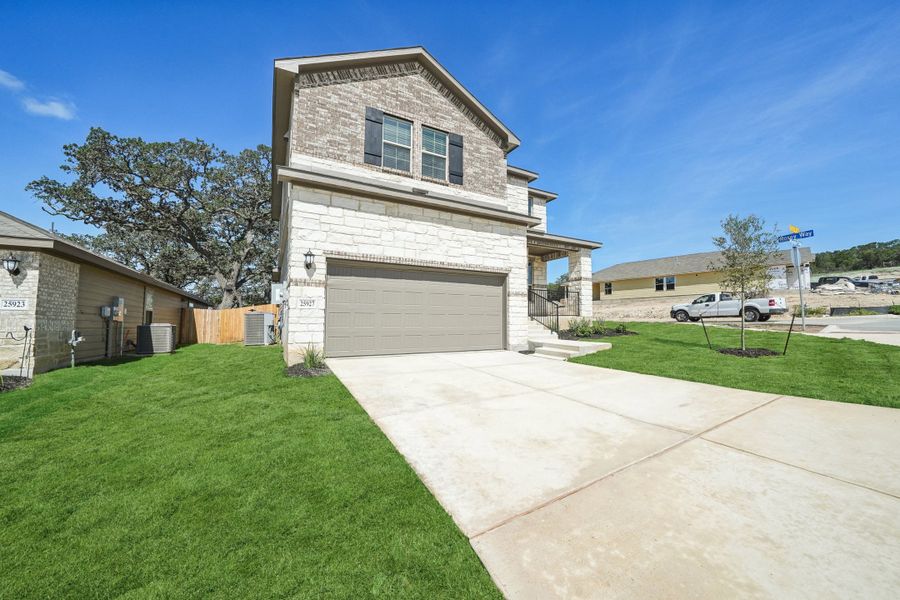
POLYGON ((460 200, 459 198, 438 192, 425 192, 415 184, 373 181, 346 173, 335 173, 325 169, 294 168, 279 166, 278 182, 291 182, 315 189, 338 191, 366 198, 386 200, 398 204, 422 206, 433 210, 465 214, 491 221, 500 221, 514 225, 531 227, 540 224, 541 220, 526 214, 512 212, 489 204, 460 200), (414 191, 415 190, 415 191, 414 191))

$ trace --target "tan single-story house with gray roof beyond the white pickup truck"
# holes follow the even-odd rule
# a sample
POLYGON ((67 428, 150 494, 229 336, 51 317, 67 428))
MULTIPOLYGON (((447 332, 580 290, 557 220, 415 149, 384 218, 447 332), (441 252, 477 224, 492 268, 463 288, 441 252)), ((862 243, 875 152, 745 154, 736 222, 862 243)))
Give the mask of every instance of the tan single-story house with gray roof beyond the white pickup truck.
MULTIPOLYGON (((620 263, 594 273, 594 300, 697 296, 719 291, 721 275, 710 268, 720 252, 700 252, 651 260, 620 263)), ((771 289, 797 289, 798 280, 809 289, 809 263, 815 259, 809 248, 800 249, 802 275, 797 276, 789 250, 770 262, 771 289)))

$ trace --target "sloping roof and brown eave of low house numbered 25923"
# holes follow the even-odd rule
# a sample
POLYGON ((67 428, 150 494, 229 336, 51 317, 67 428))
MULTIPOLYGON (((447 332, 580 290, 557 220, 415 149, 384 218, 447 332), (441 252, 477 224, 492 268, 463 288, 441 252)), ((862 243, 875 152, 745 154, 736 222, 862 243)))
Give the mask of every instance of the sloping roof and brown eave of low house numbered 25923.
POLYGON ((22 219, 3 211, 0 211, 0 247, 52 252, 74 259, 77 262, 90 263, 109 271, 119 273, 120 275, 138 279, 144 283, 184 296, 185 298, 190 298, 204 306, 208 305, 208 302, 200 296, 196 296, 181 288, 175 287, 174 285, 160 281, 146 273, 136 271, 131 267, 126 267, 122 263, 107 258, 102 254, 97 254, 78 244, 72 243, 63 237, 56 235, 52 231, 47 231, 42 227, 32 225, 27 221, 23 221, 22 219))

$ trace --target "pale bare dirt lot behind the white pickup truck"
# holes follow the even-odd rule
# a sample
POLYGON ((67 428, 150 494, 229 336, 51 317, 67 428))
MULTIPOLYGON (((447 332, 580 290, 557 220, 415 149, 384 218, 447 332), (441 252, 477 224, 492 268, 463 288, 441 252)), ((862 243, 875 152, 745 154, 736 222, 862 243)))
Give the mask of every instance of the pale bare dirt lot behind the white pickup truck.
MULTIPOLYGON (((800 304, 800 294, 796 291, 777 291, 774 294, 784 296, 791 308, 800 304)), ((808 307, 822 306, 826 309, 842 306, 865 308, 867 306, 900 304, 900 296, 870 294, 868 292, 841 295, 804 292, 803 296, 808 307)), ((690 302, 694 297, 600 300, 594 302, 594 317, 611 321, 668 321, 671 319, 669 309, 673 304, 690 302)), ((773 317, 773 320, 776 319, 790 320, 790 313, 781 317, 773 317)))

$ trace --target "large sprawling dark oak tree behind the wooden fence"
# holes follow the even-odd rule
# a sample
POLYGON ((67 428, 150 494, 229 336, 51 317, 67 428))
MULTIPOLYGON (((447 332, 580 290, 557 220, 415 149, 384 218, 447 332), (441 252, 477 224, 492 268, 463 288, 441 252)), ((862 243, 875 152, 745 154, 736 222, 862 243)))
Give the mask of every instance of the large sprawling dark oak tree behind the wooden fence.
POLYGON ((80 243, 168 283, 211 294, 220 308, 265 299, 278 227, 271 152, 230 154, 202 140, 145 142, 91 129, 63 147, 61 170, 27 189, 44 210, 105 233, 80 243))

